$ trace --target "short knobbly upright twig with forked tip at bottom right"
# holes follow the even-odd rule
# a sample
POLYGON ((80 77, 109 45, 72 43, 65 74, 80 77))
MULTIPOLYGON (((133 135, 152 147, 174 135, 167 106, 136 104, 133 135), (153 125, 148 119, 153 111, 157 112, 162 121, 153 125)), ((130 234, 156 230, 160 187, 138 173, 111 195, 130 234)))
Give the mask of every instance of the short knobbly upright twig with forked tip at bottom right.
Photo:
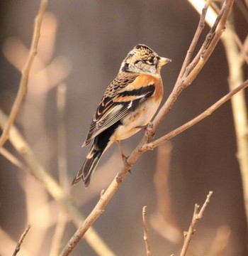
POLYGON ((201 208, 201 210, 199 210, 200 206, 198 206, 198 204, 195 205, 191 225, 189 226, 188 231, 186 233, 184 233, 184 245, 182 247, 180 256, 186 255, 186 251, 188 250, 189 242, 191 241, 191 238, 196 231, 195 230, 196 224, 198 223, 199 220, 201 220, 201 218, 203 218, 203 213, 205 211, 205 208, 208 206, 208 203, 210 203, 210 197, 212 195, 213 195, 213 192, 210 191, 208 193, 208 196, 207 196, 205 203, 203 204, 203 207, 201 208))

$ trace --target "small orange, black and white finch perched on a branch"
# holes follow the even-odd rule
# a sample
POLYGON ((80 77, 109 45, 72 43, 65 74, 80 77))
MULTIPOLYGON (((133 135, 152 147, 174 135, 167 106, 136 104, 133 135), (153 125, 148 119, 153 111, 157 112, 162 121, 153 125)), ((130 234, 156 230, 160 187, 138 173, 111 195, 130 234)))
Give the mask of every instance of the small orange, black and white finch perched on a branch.
POLYGON ((91 143, 91 148, 72 186, 81 180, 85 187, 89 186, 98 161, 114 142, 123 161, 127 159, 120 140, 139 132, 157 112, 164 93, 160 70, 170 62, 171 59, 160 57, 144 44, 130 50, 96 109, 82 144, 84 147, 91 143))

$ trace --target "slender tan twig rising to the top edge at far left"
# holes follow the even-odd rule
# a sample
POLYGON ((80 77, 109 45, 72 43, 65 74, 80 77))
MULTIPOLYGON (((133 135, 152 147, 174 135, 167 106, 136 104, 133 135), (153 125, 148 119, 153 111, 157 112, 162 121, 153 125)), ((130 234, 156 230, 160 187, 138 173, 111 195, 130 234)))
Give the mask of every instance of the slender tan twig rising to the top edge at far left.
POLYGON ((30 69, 33 64, 33 59, 35 58, 35 55, 37 54, 37 47, 38 47, 38 42, 39 42, 39 38, 40 38, 40 27, 41 27, 41 23, 43 21, 43 16, 45 13, 46 6, 47 6, 47 0, 41 0, 40 9, 38 11, 38 15, 35 18, 35 27, 34 27, 34 31, 33 31, 32 43, 30 46, 30 52, 28 55, 28 59, 26 61, 26 65, 24 66, 23 71, 22 71, 18 93, 16 95, 16 100, 13 102, 13 106, 11 108, 11 113, 9 114, 9 120, 6 123, 4 130, 0 137, 0 148, 4 145, 6 140, 9 138, 9 131, 10 131, 11 126, 13 125, 13 122, 16 119, 16 115, 18 114, 18 111, 21 107, 21 102, 23 101, 23 97, 26 95, 26 92, 27 92, 29 73, 30 73, 30 69))

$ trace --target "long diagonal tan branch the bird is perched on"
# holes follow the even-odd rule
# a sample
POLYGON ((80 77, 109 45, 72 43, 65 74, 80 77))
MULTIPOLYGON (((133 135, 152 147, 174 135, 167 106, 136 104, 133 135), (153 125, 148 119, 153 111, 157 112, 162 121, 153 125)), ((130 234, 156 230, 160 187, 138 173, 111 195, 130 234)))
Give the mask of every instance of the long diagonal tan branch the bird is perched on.
MULTIPOLYGON (((98 203, 96 203, 96 206, 88 215, 84 223, 81 223, 80 227, 74 233, 72 238, 69 240, 69 242, 67 242, 67 245, 65 245, 64 249, 60 253, 60 256, 69 255, 69 253, 72 252, 72 250, 77 245, 79 240, 85 235, 86 231, 103 213, 106 205, 111 200, 115 192, 118 191, 120 185, 123 183, 123 180, 125 179, 125 176, 128 174, 128 171, 130 171, 133 164, 135 164, 137 159, 139 159, 140 156, 145 152, 144 150, 142 150, 142 147, 148 142, 150 142, 152 135, 157 130, 157 127, 159 126, 160 122, 162 122, 162 119, 164 119, 164 116, 171 110, 171 107, 174 105, 174 102, 176 101, 176 98, 179 96, 180 92, 184 90, 186 87, 188 87, 188 85, 191 84, 191 82, 196 78, 198 73, 201 71, 209 56, 211 55, 211 53, 213 53, 213 49, 215 48, 216 44, 220 40, 220 36, 225 28, 227 16, 228 14, 230 14, 230 11, 232 9, 233 2, 234 0, 226 0, 224 2, 220 14, 215 21, 215 25, 213 26, 213 28, 211 28, 210 33, 208 33, 208 36, 206 37, 205 42, 203 43, 203 46, 200 49, 201 54, 198 54, 200 55, 198 63, 194 65, 194 68, 191 69, 190 73, 188 73, 187 76, 183 75, 184 79, 178 80, 179 82, 176 82, 174 90, 171 92, 171 95, 169 96, 167 102, 165 102, 162 108, 159 110, 159 113, 154 118, 154 121, 147 126, 147 132, 145 132, 145 136, 142 138, 141 142, 138 144, 138 146, 132 152, 132 154, 130 154, 127 161, 123 165, 122 170, 118 173, 118 175, 112 181, 110 186, 108 186, 106 192, 101 195, 100 200, 98 201, 98 203)), ((186 72, 187 70, 188 68, 186 68, 186 72)))

